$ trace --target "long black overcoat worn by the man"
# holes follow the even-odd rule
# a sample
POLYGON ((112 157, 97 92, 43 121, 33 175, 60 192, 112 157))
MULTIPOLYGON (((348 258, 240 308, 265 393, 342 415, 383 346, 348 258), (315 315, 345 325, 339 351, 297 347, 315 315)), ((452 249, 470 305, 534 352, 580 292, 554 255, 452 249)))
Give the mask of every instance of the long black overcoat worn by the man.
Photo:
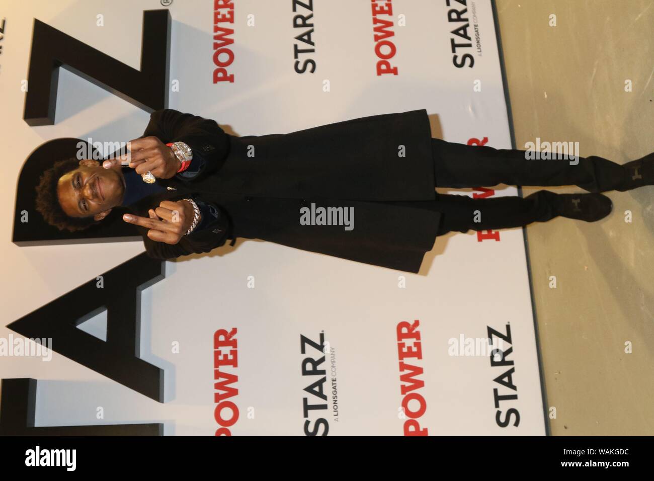
MULTIPOLYGON (((436 198, 425 109, 354 118, 290 134, 226 134, 215 122, 163 109, 143 134, 182 141, 205 159, 192 179, 157 179, 169 190, 130 207, 148 217, 162 200, 197 198, 220 211, 220 224, 175 245, 143 236, 154 258, 209 252, 228 239, 258 238, 305 251, 418 272, 432 249, 440 214, 405 201, 436 198), (354 228, 302 225, 300 209, 353 207, 354 228)), ((422 203, 424 204, 424 203, 422 203)))

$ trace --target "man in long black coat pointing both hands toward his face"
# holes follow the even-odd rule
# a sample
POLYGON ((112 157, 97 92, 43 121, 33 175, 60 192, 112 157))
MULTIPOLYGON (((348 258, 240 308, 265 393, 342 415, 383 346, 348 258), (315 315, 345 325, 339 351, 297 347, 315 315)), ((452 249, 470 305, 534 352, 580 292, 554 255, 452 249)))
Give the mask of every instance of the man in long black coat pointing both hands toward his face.
POLYGON ((58 162, 41 178, 37 208, 48 223, 76 230, 126 205, 133 214, 124 221, 137 226, 154 258, 259 238, 418 272, 436 236, 559 215, 597 221, 611 211, 599 192, 654 185, 654 154, 623 166, 577 160, 529 160, 524 151, 432 139, 424 109, 246 137, 226 134, 215 120, 163 109, 131 141, 129 167, 120 159, 58 162), (435 191, 499 183, 577 185, 592 193, 472 199, 435 191), (336 213, 336 221, 315 215, 320 208, 336 213))

